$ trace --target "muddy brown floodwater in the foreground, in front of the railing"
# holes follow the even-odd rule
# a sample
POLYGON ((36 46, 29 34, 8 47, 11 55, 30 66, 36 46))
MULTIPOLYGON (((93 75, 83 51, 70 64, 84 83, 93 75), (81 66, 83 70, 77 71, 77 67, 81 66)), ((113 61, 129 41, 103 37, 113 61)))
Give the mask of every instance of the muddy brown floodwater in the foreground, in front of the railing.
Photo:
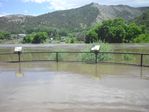
POLYGON ((148 67, 0 63, 0 112, 148 111, 148 67))

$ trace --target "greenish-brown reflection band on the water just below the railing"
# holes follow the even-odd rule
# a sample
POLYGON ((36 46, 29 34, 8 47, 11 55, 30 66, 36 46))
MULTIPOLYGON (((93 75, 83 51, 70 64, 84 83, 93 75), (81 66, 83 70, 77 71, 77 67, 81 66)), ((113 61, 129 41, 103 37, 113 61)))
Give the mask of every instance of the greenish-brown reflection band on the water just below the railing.
POLYGON ((139 67, 119 64, 85 64, 78 62, 25 62, 25 63, 1 63, 0 71, 16 71, 16 77, 23 77, 26 71, 30 72, 70 72, 88 75, 95 79, 104 76, 137 76, 148 79, 148 67, 139 67))

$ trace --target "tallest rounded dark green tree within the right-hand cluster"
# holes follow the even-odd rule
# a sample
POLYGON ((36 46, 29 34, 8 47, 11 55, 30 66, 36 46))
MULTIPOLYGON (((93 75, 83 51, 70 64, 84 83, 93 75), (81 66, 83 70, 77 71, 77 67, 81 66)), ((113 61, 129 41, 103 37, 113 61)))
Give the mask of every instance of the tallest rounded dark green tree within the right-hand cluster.
POLYGON ((121 18, 103 21, 98 29, 98 37, 100 40, 109 43, 123 42, 126 35, 125 27, 126 23, 121 18))

